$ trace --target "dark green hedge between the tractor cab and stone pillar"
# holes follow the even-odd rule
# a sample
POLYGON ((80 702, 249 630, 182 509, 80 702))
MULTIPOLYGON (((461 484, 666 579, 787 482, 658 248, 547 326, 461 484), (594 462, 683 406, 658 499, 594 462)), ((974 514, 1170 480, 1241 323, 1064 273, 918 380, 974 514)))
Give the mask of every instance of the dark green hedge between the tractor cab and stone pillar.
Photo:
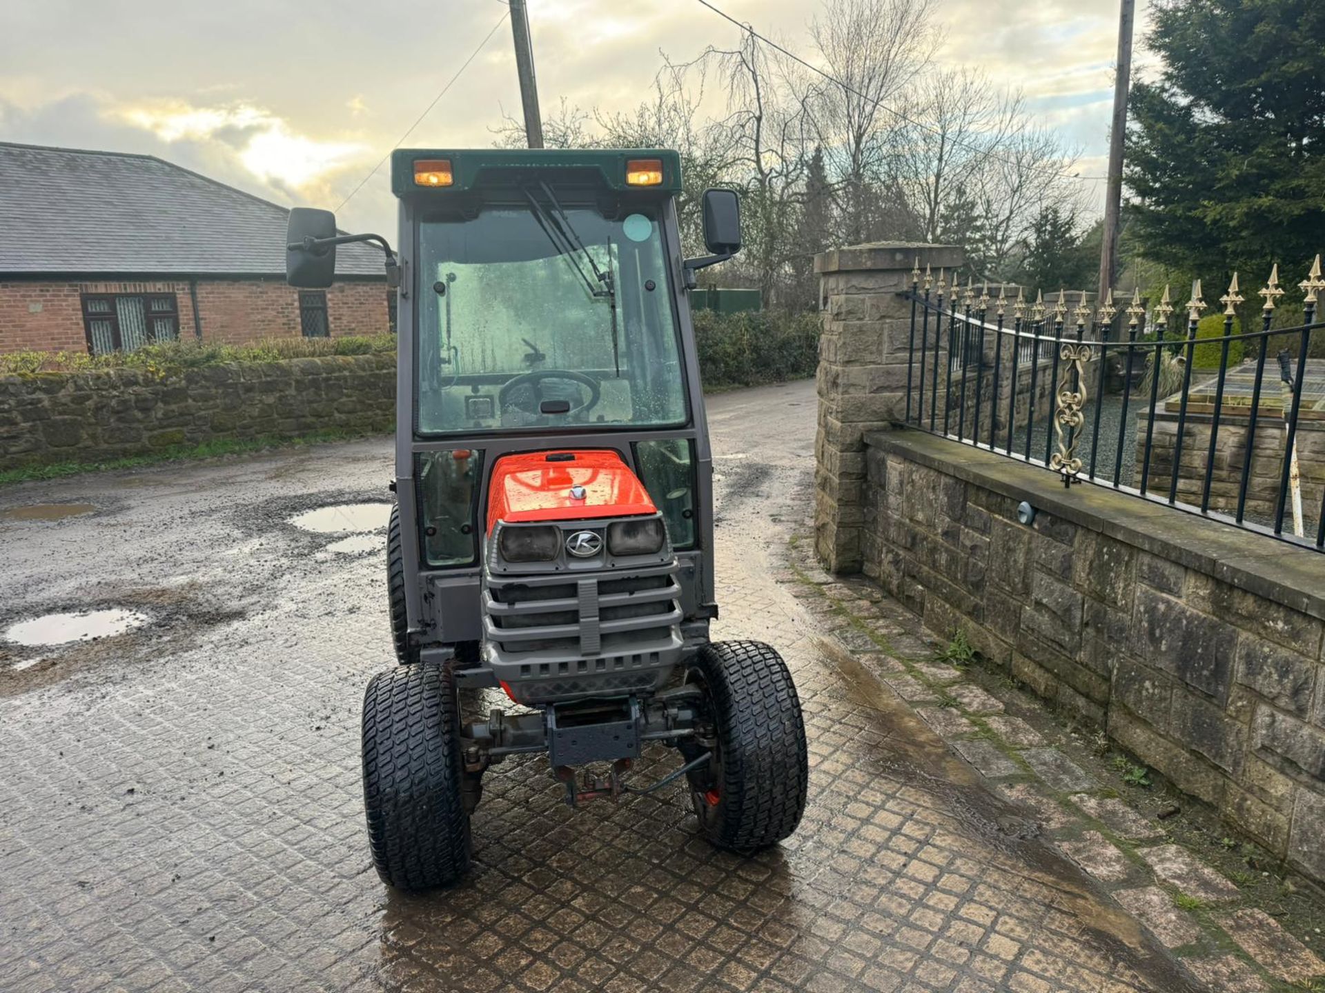
POLYGON ((694 312, 700 372, 706 387, 750 387, 815 375, 819 316, 782 311, 694 312))

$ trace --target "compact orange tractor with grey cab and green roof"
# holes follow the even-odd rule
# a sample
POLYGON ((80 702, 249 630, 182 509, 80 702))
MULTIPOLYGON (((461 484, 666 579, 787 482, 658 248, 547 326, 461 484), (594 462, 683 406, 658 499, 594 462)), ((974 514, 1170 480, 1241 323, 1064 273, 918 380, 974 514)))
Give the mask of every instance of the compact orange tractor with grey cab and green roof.
POLYGON ((713 473, 688 290, 741 248, 739 200, 702 199, 685 258, 673 151, 407 151, 399 258, 290 212, 288 281, 330 286, 376 242, 398 291, 400 665, 368 683, 363 790, 382 879, 460 878, 489 767, 546 753, 566 800, 682 780, 698 830, 754 851, 806 805, 804 723, 767 645, 714 642, 713 473), (464 723, 458 692, 515 707, 464 723), (672 745, 653 782, 631 768, 672 745))

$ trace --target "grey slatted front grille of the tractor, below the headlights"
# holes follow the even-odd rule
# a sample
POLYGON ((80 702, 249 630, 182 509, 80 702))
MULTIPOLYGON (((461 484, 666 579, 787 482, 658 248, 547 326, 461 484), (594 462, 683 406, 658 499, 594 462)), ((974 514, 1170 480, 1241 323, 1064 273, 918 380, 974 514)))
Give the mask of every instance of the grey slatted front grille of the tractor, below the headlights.
MULTIPOLYGON (((681 620, 677 565, 488 577, 485 636, 522 678, 624 675, 662 663, 681 620)), ((628 688, 624 687, 623 688, 628 688)))

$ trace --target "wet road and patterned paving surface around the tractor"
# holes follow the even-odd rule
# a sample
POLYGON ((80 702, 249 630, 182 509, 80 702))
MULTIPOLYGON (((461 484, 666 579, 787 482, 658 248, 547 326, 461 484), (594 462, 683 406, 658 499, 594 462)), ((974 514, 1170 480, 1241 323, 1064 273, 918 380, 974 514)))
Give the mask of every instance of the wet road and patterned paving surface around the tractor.
POLYGON ((0 632, 152 618, 0 642, 0 990, 1200 989, 774 581, 812 504, 814 417, 812 384, 710 405, 716 634, 792 667, 796 834, 719 853, 681 789, 571 810, 546 760, 513 759, 485 779, 473 875, 425 895, 384 888, 363 837, 388 440, 0 490, 0 514, 95 507, 0 524, 0 632))

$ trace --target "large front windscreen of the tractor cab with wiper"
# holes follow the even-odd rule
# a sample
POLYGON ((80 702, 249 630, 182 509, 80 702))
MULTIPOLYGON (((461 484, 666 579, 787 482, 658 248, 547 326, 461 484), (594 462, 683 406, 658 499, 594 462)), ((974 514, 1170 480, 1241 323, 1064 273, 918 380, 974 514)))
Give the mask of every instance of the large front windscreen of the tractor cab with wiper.
POLYGON ((657 217, 527 196, 421 225, 419 432, 684 424, 657 217))

